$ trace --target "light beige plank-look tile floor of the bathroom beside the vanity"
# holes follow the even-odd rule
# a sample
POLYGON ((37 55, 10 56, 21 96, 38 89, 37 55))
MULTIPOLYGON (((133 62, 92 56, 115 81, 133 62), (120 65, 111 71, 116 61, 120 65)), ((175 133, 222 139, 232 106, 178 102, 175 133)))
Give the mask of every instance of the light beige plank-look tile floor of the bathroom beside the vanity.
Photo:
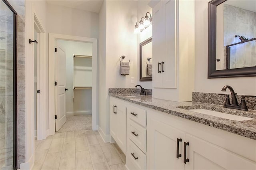
POLYGON ((35 141, 33 170, 126 170, 116 143, 104 143, 98 131, 60 132, 35 141))

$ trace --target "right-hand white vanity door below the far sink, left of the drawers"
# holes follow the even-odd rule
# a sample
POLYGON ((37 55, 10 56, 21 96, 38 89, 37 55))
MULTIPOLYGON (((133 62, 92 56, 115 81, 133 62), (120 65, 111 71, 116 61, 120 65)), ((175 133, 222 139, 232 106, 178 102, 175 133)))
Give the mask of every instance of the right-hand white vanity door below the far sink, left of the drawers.
POLYGON ((120 149, 126 153, 126 106, 124 103, 117 103, 116 116, 117 135, 115 140, 120 149))

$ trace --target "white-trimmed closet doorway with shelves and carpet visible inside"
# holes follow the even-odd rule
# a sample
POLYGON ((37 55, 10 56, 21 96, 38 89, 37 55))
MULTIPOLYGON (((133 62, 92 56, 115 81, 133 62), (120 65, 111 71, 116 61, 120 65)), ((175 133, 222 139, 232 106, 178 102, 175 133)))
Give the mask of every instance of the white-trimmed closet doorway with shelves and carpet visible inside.
POLYGON ((48 135, 64 131, 98 130, 96 39, 49 34, 49 118, 48 135), (58 48, 66 53, 66 76, 65 83, 62 83, 66 99, 56 103, 55 92, 58 81, 56 83, 52 82, 58 79, 58 76, 56 77, 58 72, 63 72, 56 69, 58 67, 56 67, 56 63, 62 63, 63 65, 63 62, 56 61, 58 48), (60 102, 62 103, 60 104, 60 102), (58 105, 65 107, 65 109, 62 107, 64 113, 56 112, 58 105), (55 127, 58 115, 59 118, 66 117, 66 123, 55 127), (54 119, 52 119, 53 117, 54 119))

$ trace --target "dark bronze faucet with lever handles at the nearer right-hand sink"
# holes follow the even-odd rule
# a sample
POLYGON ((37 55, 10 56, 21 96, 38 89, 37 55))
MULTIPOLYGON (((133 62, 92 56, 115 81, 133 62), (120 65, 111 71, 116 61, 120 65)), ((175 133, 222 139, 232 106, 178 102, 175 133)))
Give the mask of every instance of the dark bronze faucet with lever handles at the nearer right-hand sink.
POLYGON ((237 98, 236 98, 236 93, 235 93, 234 89, 231 86, 229 86, 229 85, 225 85, 222 88, 221 91, 226 91, 226 89, 229 89, 230 92, 231 92, 232 104, 230 104, 229 95, 227 95, 227 94, 219 94, 219 95, 225 95, 226 96, 226 102, 225 102, 223 107, 230 108, 230 109, 238 109, 238 110, 248 111, 248 107, 246 106, 245 97, 256 97, 256 96, 242 95, 241 96, 240 105, 238 105, 237 98))

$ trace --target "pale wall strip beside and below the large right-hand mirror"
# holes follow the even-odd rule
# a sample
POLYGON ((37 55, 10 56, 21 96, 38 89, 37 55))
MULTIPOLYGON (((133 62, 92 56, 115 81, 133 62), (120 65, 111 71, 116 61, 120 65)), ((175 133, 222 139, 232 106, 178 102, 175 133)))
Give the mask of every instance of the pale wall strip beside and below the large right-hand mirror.
MULTIPOLYGON (((222 93, 230 85, 241 95, 256 95, 255 77, 207 79, 208 62, 208 0, 195 1, 195 91, 222 93)), ((229 93, 229 92, 227 92, 229 93)))

